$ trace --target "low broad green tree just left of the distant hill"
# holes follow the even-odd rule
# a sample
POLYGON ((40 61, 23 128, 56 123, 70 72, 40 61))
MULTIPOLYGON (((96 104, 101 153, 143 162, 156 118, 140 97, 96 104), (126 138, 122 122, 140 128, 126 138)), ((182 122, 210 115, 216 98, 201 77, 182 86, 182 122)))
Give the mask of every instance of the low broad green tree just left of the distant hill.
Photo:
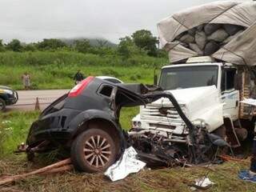
POLYGON ((66 47, 66 43, 58 38, 44 38, 36 44, 38 50, 59 50, 66 47))

